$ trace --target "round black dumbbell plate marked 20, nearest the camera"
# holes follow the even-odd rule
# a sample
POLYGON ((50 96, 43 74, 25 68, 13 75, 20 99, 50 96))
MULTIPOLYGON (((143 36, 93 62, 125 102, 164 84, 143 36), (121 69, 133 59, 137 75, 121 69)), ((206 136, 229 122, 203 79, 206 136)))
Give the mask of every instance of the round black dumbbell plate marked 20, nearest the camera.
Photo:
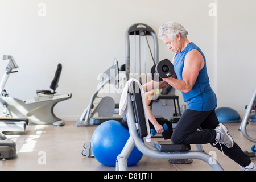
POLYGON ((155 72, 160 78, 169 78, 174 74, 174 65, 169 60, 162 60, 156 64, 155 72))

